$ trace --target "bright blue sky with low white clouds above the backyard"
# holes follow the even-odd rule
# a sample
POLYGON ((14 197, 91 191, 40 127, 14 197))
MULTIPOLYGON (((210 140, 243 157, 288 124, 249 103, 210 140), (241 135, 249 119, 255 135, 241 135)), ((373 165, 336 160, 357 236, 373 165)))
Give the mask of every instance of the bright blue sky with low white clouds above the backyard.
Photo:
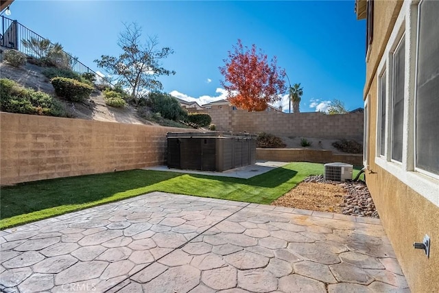
MULTIPOLYGON (((363 107, 365 21, 355 1, 25 1, 9 16, 61 43, 93 70, 101 55, 117 56, 123 23, 137 22, 175 54, 160 78, 164 90, 200 104, 226 94, 218 67, 240 38, 277 56, 292 84, 303 86, 301 112, 324 110, 331 99, 363 107)), ((285 93, 286 94, 286 93, 285 93)), ((286 96, 286 95, 285 95, 286 96)), ((280 104, 280 103, 279 103, 280 104)), ((287 99, 283 101, 288 108, 287 99)), ((277 105, 276 105, 277 106, 277 105)))

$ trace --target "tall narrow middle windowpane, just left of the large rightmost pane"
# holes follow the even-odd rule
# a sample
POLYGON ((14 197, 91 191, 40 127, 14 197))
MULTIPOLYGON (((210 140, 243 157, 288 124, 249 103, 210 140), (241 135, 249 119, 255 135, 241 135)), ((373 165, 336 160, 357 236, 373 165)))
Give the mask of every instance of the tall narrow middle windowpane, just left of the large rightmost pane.
POLYGON ((393 54, 392 95, 392 160, 403 160, 403 117, 405 78, 405 37, 401 38, 393 54))

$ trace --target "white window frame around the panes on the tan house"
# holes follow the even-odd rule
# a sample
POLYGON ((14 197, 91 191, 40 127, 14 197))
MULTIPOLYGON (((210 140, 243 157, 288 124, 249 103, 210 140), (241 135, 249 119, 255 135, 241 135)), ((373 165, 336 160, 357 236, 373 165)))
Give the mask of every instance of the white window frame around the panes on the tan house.
MULTIPOLYGON (((424 0, 421 0, 424 1, 424 0)), ((407 185, 408 188, 414 190, 423 198, 426 198, 436 207, 439 207, 439 180, 435 174, 428 174, 424 170, 416 169, 414 162, 416 161, 416 150, 414 148, 414 140, 416 139, 414 128, 416 128, 416 120, 413 118, 415 113, 415 84, 416 84, 416 56, 417 56, 417 41, 418 41, 418 4, 421 1, 412 0, 404 1, 401 6, 399 15, 396 17, 394 27, 385 47, 383 49, 383 55, 379 61, 377 74, 375 75, 376 84, 378 84, 379 73, 383 72, 383 68, 387 68, 387 117, 386 117, 386 156, 377 155, 377 143, 375 143, 375 164, 381 167, 386 172, 392 174, 392 176, 398 178, 402 183, 407 185), (390 114, 392 112, 392 104, 390 98, 393 96, 392 86, 390 83, 392 77, 392 52, 394 51, 396 44, 398 44, 405 36, 405 91, 404 91, 404 117, 403 117, 403 162, 394 162, 390 159, 390 132, 391 132, 391 120, 390 114), (433 176, 432 176, 433 175, 433 176)), ((378 93, 376 90, 375 93, 378 93)), ((375 99, 378 101, 378 99, 375 99)), ((378 104, 378 103, 377 103, 378 104)), ((379 105, 377 105, 379 107, 379 105)), ((378 110, 378 109, 377 109, 378 110)), ((378 113, 378 111, 377 111, 378 113)), ((377 128, 375 129, 375 135, 378 135, 377 128)))

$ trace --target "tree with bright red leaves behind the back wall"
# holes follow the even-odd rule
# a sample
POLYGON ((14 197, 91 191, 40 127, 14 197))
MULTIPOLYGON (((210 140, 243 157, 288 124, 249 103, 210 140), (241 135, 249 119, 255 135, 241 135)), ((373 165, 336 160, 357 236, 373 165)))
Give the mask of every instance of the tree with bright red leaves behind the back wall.
POLYGON ((233 106, 249 111, 263 111, 268 103, 281 99, 285 92, 285 69, 276 67, 276 56, 268 62, 267 55, 256 45, 251 49, 244 47, 238 39, 233 51, 228 51, 226 65, 219 67, 228 91, 228 100, 233 106))

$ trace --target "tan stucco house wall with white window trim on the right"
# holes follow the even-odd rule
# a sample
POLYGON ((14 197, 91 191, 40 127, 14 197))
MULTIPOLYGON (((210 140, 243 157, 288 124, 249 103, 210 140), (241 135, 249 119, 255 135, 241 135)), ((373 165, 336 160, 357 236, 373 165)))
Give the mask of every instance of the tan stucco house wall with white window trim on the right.
MULTIPOLYGON (((361 1, 361 0, 360 0, 361 1)), ((358 1, 357 1, 358 2, 358 1)), ((419 1, 374 1, 373 40, 366 56, 366 183, 412 292, 439 292, 439 179, 414 167, 414 71, 419 1), (379 77, 391 65, 394 44, 405 34, 403 159, 379 152, 379 77), (414 249, 431 239, 429 258, 414 249)), ((388 85, 391 83, 387 83, 388 85)), ((387 93, 389 89, 387 89, 387 93)), ((388 105, 388 104, 387 104, 388 105)), ((387 110, 392 110, 386 106, 387 110)), ((386 126, 385 148, 391 139, 386 126)), ((432 126, 438 129, 438 126, 432 126)), ((438 132, 439 134, 439 132, 438 132)))

